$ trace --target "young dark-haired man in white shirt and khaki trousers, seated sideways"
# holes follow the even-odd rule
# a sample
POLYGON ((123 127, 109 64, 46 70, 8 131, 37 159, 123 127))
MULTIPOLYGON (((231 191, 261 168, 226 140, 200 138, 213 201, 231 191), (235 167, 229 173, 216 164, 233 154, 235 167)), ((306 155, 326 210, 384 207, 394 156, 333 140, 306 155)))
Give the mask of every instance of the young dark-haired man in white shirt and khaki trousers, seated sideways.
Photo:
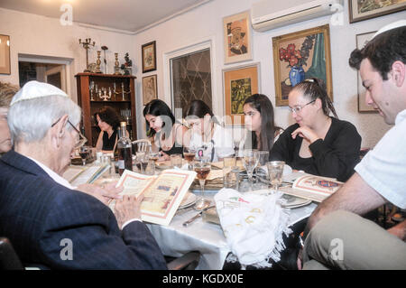
POLYGON ((303 269, 406 269, 406 220, 385 230, 360 215, 385 203, 406 209, 406 20, 375 33, 349 60, 365 102, 393 125, 346 181, 309 218, 303 269))

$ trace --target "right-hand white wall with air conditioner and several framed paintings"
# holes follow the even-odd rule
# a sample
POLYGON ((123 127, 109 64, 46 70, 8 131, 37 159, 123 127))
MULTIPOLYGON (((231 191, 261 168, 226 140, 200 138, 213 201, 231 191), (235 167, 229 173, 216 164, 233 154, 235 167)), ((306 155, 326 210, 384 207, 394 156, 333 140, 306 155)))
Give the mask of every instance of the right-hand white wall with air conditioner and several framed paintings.
MULTIPOLYGON (((257 0, 213 0, 206 5, 189 11, 186 14, 161 23, 158 26, 135 35, 137 49, 146 42, 156 41, 157 45, 157 70, 143 74, 139 71, 138 79, 152 74, 158 74, 158 93, 160 98, 170 104, 170 95, 165 95, 165 81, 168 81, 168 73, 165 70, 164 54, 176 51, 184 46, 204 40, 212 40, 214 51, 213 65, 213 112, 223 115, 223 82, 222 70, 251 62, 261 63, 261 92, 267 95, 273 106, 275 105, 275 88, 273 80, 272 37, 293 33, 300 30, 316 27, 329 23, 330 17, 320 17, 303 23, 295 23, 286 27, 277 28, 265 33, 253 31, 254 59, 236 64, 224 64, 224 41, 223 41, 223 17, 237 14, 251 8, 257 0)), ((355 35, 376 31, 386 23, 392 23, 406 18, 406 12, 385 15, 382 17, 365 20, 350 24, 348 21, 347 1, 344 7, 344 24, 333 26, 330 24, 330 42, 332 55, 332 76, 334 105, 341 119, 352 122, 363 137, 362 146, 371 147, 378 142, 390 126, 383 123, 381 116, 377 114, 360 114, 357 112, 357 79, 356 71, 348 66, 348 57, 355 49, 355 35)), ((141 63, 141 52, 136 52, 136 63, 141 63)), ((142 88, 137 87, 138 95, 141 96, 142 88)), ((166 93, 168 94, 168 93, 166 93)), ((139 99, 138 110, 142 112, 142 100, 139 99)), ((291 115, 286 107, 275 108, 276 123, 287 127, 293 123, 291 115)), ((144 136, 144 122, 138 121, 138 133, 144 136)))

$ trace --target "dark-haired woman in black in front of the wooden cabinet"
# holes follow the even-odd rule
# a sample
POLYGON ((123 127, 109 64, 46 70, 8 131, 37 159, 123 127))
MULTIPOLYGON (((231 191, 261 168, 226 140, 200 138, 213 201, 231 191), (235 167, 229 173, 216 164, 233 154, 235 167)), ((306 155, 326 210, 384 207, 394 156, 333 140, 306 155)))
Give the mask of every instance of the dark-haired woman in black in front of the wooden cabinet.
MULTIPOLYGON (((97 138, 97 151, 109 153, 114 151, 118 140, 117 129, 120 126, 120 117, 112 107, 103 107, 95 113, 95 119, 101 130, 97 138)), ((126 133, 128 136, 128 132, 126 133)))

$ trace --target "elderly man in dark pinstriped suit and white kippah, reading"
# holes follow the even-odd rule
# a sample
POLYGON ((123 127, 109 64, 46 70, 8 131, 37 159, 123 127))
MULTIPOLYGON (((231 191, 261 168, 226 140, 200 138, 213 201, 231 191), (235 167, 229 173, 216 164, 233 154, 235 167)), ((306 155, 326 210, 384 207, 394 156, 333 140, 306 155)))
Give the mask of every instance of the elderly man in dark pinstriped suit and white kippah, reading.
POLYGON ((115 218, 93 197, 95 186, 78 188, 83 193, 61 177, 74 148, 84 144, 80 116, 80 107, 50 84, 30 81, 15 94, 7 117, 14 150, 0 158, 0 236, 10 239, 25 265, 166 269, 139 220, 142 197, 117 200, 115 218))

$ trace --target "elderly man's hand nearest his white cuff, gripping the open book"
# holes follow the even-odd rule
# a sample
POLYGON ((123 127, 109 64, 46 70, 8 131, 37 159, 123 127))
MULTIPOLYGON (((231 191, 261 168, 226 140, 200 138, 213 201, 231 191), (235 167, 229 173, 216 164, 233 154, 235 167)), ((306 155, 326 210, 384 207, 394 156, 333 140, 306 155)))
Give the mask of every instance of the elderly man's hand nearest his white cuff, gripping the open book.
POLYGON ((128 220, 134 218, 141 220, 141 202, 143 194, 137 197, 124 195, 123 199, 115 201, 115 218, 119 228, 123 228, 128 220))

